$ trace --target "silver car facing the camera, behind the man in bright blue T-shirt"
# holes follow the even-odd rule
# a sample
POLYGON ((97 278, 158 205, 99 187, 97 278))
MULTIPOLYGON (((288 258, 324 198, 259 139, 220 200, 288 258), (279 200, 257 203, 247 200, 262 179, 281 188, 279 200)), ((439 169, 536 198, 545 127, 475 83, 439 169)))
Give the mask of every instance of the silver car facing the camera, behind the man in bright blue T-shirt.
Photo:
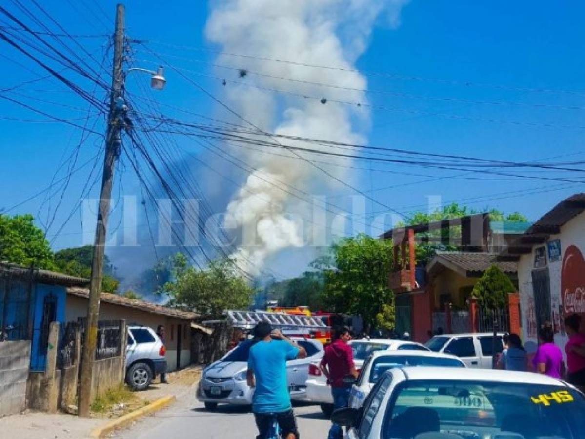
MULTIPOLYGON (((298 345, 307 350, 307 358, 287 362, 287 381, 291 399, 305 399, 309 376, 309 364, 323 356, 323 345, 316 340, 292 337, 298 345)), ((197 387, 197 400, 205 408, 214 410, 218 403, 252 404, 254 389, 246 383, 248 354, 252 341, 243 341, 229 351, 221 360, 205 368, 197 387)))

